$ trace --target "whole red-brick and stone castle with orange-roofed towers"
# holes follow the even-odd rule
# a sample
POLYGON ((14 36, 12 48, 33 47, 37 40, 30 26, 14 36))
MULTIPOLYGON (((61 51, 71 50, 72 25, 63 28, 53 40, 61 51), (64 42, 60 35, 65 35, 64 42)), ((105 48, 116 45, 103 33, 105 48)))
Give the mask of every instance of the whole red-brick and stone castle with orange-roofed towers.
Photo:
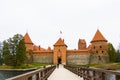
POLYGON ((44 49, 36 46, 28 33, 24 36, 28 61, 53 64, 99 64, 109 62, 108 43, 102 33, 97 30, 91 44, 87 47, 85 39, 78 40, 77 50, 68 50, 64 40, 59 38, 54 48, 44 49))

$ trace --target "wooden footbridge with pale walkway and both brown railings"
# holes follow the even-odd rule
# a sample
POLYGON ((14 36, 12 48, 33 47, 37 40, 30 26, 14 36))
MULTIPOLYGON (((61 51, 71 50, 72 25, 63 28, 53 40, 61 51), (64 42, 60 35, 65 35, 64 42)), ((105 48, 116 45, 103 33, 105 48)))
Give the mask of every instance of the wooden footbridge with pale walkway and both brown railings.
POLYGON ((6 80, 120 80, 120 72, 67 65, 49 66, 6 80))

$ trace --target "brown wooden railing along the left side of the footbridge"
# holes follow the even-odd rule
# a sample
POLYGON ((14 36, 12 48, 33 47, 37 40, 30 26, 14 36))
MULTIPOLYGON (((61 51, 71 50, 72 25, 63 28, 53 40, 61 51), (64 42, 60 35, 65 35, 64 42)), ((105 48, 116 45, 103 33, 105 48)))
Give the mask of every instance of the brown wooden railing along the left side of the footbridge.
POLYGON ((25 74, 8 78, 6 80, 47 80, 54 69, 55 66, 44 67, 42 69, 27 72, 25 74))

